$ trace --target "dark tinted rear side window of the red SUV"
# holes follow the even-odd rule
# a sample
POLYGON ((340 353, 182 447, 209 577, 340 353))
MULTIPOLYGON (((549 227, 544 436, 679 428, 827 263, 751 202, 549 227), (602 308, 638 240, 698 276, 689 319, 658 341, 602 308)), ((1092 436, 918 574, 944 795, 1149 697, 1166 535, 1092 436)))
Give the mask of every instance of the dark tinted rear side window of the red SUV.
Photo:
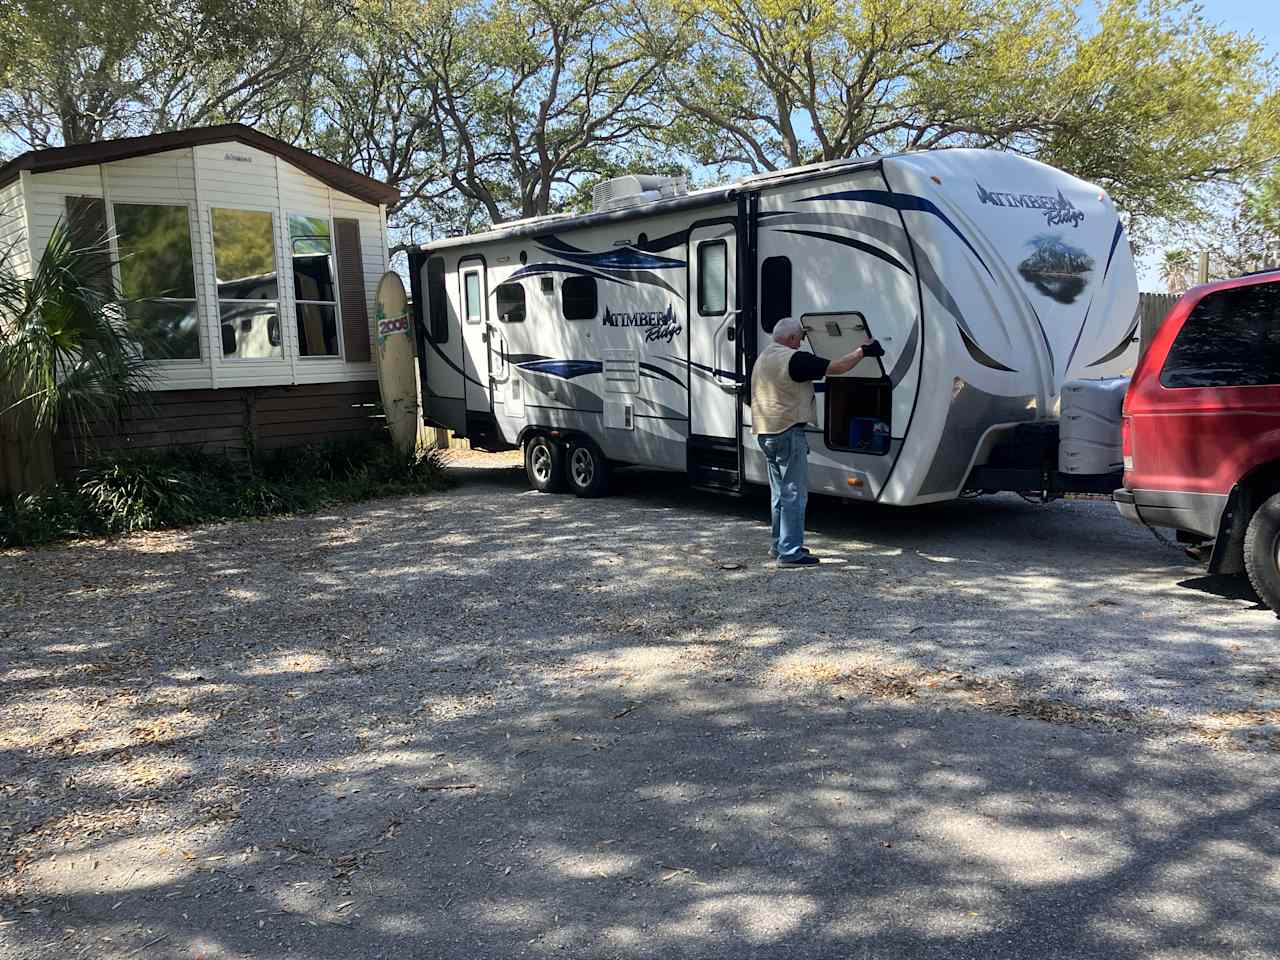
POLYGON ((1280 384, 1280 284, 1260 283, 1206 294, 1169 348, 1160 383, 1280 384))

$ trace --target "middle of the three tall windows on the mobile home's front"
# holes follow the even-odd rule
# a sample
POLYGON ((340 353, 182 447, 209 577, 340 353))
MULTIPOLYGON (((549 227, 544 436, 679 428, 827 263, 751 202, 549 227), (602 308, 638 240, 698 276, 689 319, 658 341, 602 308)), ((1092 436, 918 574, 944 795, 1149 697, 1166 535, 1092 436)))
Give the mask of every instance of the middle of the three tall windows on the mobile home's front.
POLYGON ((223 355, 239 360, 283 357, 271 214, 221 207, 210 214, 223 355))

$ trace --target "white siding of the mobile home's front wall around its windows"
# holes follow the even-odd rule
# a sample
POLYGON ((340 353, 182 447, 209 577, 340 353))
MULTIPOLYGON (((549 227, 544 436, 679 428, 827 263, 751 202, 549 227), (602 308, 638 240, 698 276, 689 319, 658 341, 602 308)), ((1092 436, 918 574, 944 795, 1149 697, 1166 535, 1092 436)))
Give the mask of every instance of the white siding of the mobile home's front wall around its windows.
MULTIPOLYGON (((365 266, 365 300, 370 339, 374 294, 388 269, 384 211, 303 173, 274 154, 238 142, 212 143, 193 148, 119 160, 111 164, 78 166, 23 179, 0 192, 0 210, 10 193, 27 183, 26 206, 31 221, 32 250, 42 250, 54 224, 67 215, 67 197, 102 197, 108 223, 114 225, 113 202, 174 204, 189 211, 192 257, 196 270, 196 308, 201 320, 200 360, 173 360, 157 364, 154 388, 184 390, 210 387, 269 387, 294 383, 338 383, 372 380, 372 362, 348 364, 342 357, 298 357, 297 320, 293 305, 293 273, 288 251, 288 215, 352 218, 360 221, 360 242, 365 266), (275 260, 280 287, 280 329, 284 356, 280 360, 223 358, 214 276, 212 221, 210 209, 262 210, 273 216, 275 260)), ((0 215, 3 219, 3 215, 0 215)), ((0 223, 0 237, 5 227, 0 223)), ((340 307, 339 307, 340 310, 340 307)), ((339 330, 342 320, 338 320, 339 330)), ((346 344, 344 344, 346 348, 346 344)))

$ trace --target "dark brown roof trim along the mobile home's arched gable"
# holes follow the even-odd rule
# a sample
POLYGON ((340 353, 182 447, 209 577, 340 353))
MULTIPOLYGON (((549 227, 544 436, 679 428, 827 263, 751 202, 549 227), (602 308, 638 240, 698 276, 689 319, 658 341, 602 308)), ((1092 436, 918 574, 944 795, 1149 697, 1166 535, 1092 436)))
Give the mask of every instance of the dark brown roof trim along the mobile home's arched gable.
POLYGON ((172 133, 154 133, 150 137, 125 137, 123 140, 101 140, 96 143, 81 143, 73 147, 50 147, 29 150, 26 154, 0 166, 0 187, 6 187, 18 179, 24 170, 29 173, 49 173, 72 166, 90 164, 109 164, 115 160, 128 160, 133 156, 159 154, 165 150, 182 150, 206 143, 237 142, 257 147, 287 160, 337 191, 358 197, 369 204, 387 204, 399 200, 399 191, 381 180, 365 177, 346 166, 308 154, 306 150, 285 143, 283 140, 259 133, 242 123, 225 123, 219 127, 191 127, 172 133))

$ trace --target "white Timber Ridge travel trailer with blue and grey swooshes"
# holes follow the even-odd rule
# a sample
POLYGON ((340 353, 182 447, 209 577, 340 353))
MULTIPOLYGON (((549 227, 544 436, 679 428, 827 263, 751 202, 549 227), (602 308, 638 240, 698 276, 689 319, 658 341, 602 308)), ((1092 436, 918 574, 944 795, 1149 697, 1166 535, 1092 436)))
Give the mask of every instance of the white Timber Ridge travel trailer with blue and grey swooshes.
POLYGON ((415 250, 410 279, 424 416, 522 447, 541 490, 599 494, 612 465, 768 483, 749 383, 785 316, 823 357, 886 349, 817 384, 814 492, 1119 485, 1119 463, 1060 471, 1057 424, 1064 385, 1134 366, 1129 244, 1106 192, 1025 157, 904 154, 692 192, 623 177, 589 214, 415 250))

